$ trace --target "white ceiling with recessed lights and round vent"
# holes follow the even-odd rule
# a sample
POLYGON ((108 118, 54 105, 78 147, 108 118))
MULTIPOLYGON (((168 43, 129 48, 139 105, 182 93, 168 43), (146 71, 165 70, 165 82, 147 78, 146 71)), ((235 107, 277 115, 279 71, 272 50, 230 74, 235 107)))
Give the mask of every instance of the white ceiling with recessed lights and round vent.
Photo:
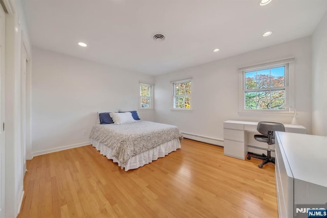
POLYGON ((272 0, 266 6, 259 0, 22 3, 33 46, 150 75, 311 35, 327 10, 326 0, 272 0), (271 36, 262 36, 270 30, 271 36), (156 42, 154 34, 166 40, 156 42))

